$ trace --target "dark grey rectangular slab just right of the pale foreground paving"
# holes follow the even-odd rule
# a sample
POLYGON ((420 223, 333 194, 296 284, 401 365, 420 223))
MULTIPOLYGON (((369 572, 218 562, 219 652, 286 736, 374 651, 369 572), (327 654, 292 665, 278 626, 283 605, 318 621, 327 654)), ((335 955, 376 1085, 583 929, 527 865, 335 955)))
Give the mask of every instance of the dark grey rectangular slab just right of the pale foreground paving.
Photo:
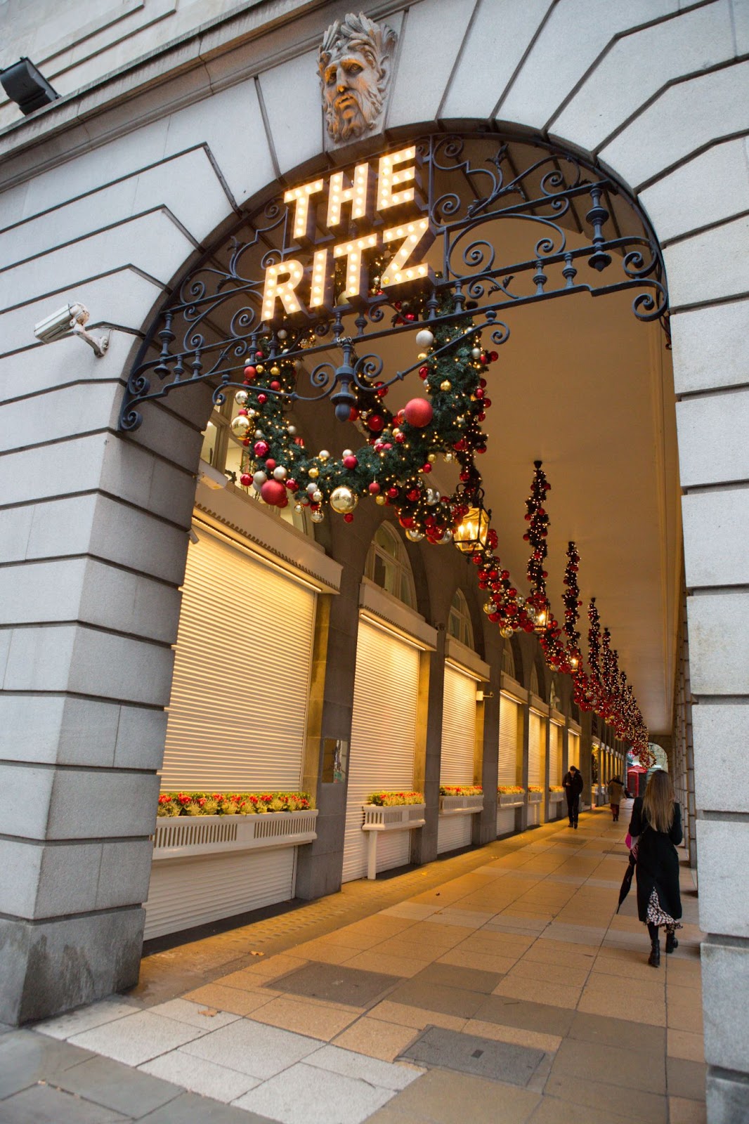
POLYGON ((457 1069, 461 1073, 524 1087, 543 1061, 544 1052, 430 1026, 404 1050, 401 1057, 430 1069, 457 1069))

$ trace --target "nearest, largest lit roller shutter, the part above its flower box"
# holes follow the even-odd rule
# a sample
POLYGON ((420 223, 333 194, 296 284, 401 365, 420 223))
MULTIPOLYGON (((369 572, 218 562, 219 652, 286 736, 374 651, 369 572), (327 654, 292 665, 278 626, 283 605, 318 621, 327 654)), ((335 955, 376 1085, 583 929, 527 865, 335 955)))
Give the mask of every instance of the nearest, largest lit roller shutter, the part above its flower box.
POLYGON ((299 787, 315 600, 200 529, 188 552, 162 788, 299 787))

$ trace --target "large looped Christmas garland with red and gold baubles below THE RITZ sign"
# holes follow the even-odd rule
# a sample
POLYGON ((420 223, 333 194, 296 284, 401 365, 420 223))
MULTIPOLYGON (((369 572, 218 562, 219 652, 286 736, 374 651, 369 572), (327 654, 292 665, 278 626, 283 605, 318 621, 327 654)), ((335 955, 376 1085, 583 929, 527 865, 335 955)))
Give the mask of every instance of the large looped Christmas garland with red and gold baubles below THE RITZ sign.
POLYGON ((235 395, 241 409, 232 428, 246 448, 240 482, 253 486, 269 505, 286 507, 292 500, 299 510, 308 507, 315 523, 323 520, 326 505, 351 523, 359 500, 369 495, 395 508, 412 542, 450 542, 480 486, 475 455, 486 452, 481 423, 491 405, 484 374, 497 353, 484 352, 470 328, 444 323, 435 323, 434 332, 422 328, 416 343, 423 348, 418 373, 428 397, 412 399, 394 416, 383 401, 388 388, 376 378, 363 389, 352 383, 350 419, 367 444, 344 450, 341 457, 305 448, 285 410, 296 388, 296 365, 283 350, 277 354, 264 345, 256 351, 244 369, 247 389, 235 395), (437 456, 454 459, 460 468, 460 484, 448 498, 428 483, 437 456))

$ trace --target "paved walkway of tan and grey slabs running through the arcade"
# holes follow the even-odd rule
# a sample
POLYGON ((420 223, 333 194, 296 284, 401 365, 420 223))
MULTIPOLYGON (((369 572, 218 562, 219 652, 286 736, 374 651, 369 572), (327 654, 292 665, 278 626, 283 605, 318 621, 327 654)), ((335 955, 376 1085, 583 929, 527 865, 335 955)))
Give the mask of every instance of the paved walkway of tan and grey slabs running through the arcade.
POLYGON ((634 891, 614 913, 628 818, 156 952, 129 995, 0 1036, 0 1121, 700 1124, 694 881, 652 969, 634 891))

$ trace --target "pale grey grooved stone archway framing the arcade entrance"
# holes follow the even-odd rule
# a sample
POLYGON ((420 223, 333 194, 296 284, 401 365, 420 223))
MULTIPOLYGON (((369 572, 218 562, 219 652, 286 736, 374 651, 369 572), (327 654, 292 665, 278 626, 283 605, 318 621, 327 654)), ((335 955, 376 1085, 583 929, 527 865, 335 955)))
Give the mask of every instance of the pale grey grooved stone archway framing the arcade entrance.
MULTIPOLYGON (((737 61, 746 53, 746 28, 738 18, 731 25, 738 4, 701 4, 678 13, 670 6, 646 9, 612 8, 581 40, 579 15, 569 3, 551 9, 518 6, 509 26, 497 4, 475 8, 425 0, 413 6, 405 21, 387 128, 395 135, 414 119, 478 118, 520 121, 542 135, 563 136, 574 148, 597 155, 630 184, 652 219, 665 245, 675 312, 676 390, 686 396, 679 406, 686 582, 689 588, 720 588, 720 593, 696 598, 691 607, 692 687, 705 700, 696 708, 695 769, 707 779, 706 759, 715 738, 727 752, 746 740, 738 716, 743 707, 730 704, 749 694, 745 671, 736 668, 723 676, 715 655, 729 644, 742 650, 746 593, 737 582, 746 581, 746 574, 721 550, 716 535, 715 550, 709 547, 706 529, 721 526, 721 505, 738 502, 731 482, 746 478, 745 451, 737 444, 742 441, 741 427, 734 425, 737 408, 743 408, 746 398, 742 343, 749 292, 743 263, 734 259, 746 211, 747 64, 737 61), (424 42, 441 20, 446 20, 440 24, 443 49, 435 53, 426 76, 419 65, 424 42), (668 25, 673 36, 659 39, 670 30, 668 25), (692 57, 698 61, 692 63, 692 57), (612 80, 634 72, 643 80, 612 80), (705 183, 712 193, 704 192, 705 183), (725 269, 731 261, 736 268, 725 269), (709 459, 705 448, 711 451, 709 459), (689 491, 702 486, 712 489, 709 496, 689 491), (713 706, 720 695, 727 696, 728 705, 713 706)), ((0 1018, 8 1022, 75 1006, 127 986, 137 976, 138 903, 148 862, 143 844, 152 817, 133 809, 148 805, 154 788, 148 772, 159 767, 163 750, 159 707, 169 697, 175 589, 187 550, 200 418, 206 415, 196 406, 199 395, 192 402, 183 397, 179 404, 170 402, 169 409, 155 410, 148 428, 128 442, 112 437, 111 418, 120 377, 129 369, 132 333, 141 330, 179 262, 232 207, 241 207, 278 173, 287 175, 299 161, 323 151, 309 47, 319 40, 328 18, 330 11, 321 8, 280 31, 271 29, 267 40, 254 35, 237 38, 231 44, 236 48, 231 66, 222 69, 217 51, 218 71, 216 60, 207 64, 199 47, 184 42, 179 74, 170 74, 169 60, 159 83, 152 70, 133 66, 123 74, 119 88, 129 99, 127 105, 107 102, 110 92, 102 97, 100 90, 88 90, 78 103, 71 97, 62 99, 28 126, 21 123, 17 136, 3 137, 8 148, 2 185, 8 189, 11 221, 22 220, 16 232, 21 244, 4 260, 12 264, 29 253, 48 252, 44 280, 29 280, 28 271, 25 277, 22 271, 6 274, 13 303, 1 321, 10 438, 0 493, 12 532, 7 580, 15 580, 13 568, 38 568, 34 582, 19 586, 18 597, 9 596, 13 646, 1 713, 3 727, 16 735, 17 783, 25 783, 25 762, 40 765, 35 778, 44 776, 44 795, 35 800, 38 816, 33 824, 11 825, 11 831, 42 846, 54 842, 57 854, 70 849, 73 855, 65 817, 85 821, 91 843, 87 851, 99 854, 100 841, 111 836, 116 842, 109 851, 121 876, 117 887, 107 887, 102 896, 92 891, 79 903, 80 916, 71 922, 73 870, 81 873, 84 863, 72 859, 63 863, 71 881, 63 877, 54 886, 45 883, 42 868, 33 874, 25 868, 10 872, 10 885, 24 886, 25 897, 1 907, 10 936, 6 948, 18 950, 7 976, 13 986, 0 1010, 0 1018), (281 44, 278 37, 285 34, 288 42, 281 44), (263 93, 268 134, 256 87, 263 93), (285 127, 283 117, 288 89, 298 91, 299 117, 291 127, 285 127), (237 137, 252 138, 252 161, 237 137), (188 167, 192 154, 199 172, 188 167), (141 174, 144 182, 148 180, 144 190, 151 214, 157 215, 155 223, 137 214, 129 201, 123 202, 116 187, 141 174), (189 200, 181 203, 180 197, 199 182, 205 184, 201 206, 191 210, 189 200), (99 206, 75 226, 67 205, 87 197, 99 206), (39 233, 43 211, 55 208, 60 208, 56 233, 39 233), (101 216, 111 229, 127 228, 127 237, 108 233, 102 241, 101 216), (75 252, 63 254, 60 247, 75 238, 75 252), (155 245, 159 254, 150 254, 155 245), (51 293, 54 303, 73 296, 83 299, 93 320, 114 324, 106 366, 98 366, 93 356, 82 356, 75 341, 44 350, 29 346, 29 325, 49 310, 51 293), (71 371, 85 389, 74 409, 71 371), (36 471, 40 430, 55 444, 54 480, 43 480, 36 471), (38 524, 44 527, 35 535, 30 534, 33 504, 38 505, 38 524), (89 559, 88 574, 82 572, 82 558, 89 559), (144 614, 128 615, 125 598, 98 598, 96 590, 105 589, 102 575, 109 579, 114 571, 117 582, 132 582, 139 595, 145 596, 153 582, 159 584, 160 613, 146 619, 144 614), (72 616, 61 624, 52 609, 39 615, 37 591, 62 586, 71 592, 72 616), (52 624, 47 618, 54 618, 52 624), (54 653, 44 673, 36 659, 42 651, 54 653), (91 736, 80 737, 81 729, 91 736), (82 770, 87 791, 93 794, 85 809, 75 801, 82 770), (105 792, 128 808, 126 819, 94 815, 96 796, 105 792), (30 967, 38 962, 42 944, 48 976, 30 967), (79 978, 60 968, 69 945, 82 953, 79 978)), ((396 21, 400 27, 399 13, 396 21)), ((733 768, 741 769, 739 758, 733 768)), ((742 810, 725 787, 702 799, 713 818, 742 810)), ((711 832, 727 826, 705 827, 701 844, 705 885, 712 877, 718 882, 722 862, 720 846, 711 852, 715 837, 711 832)), ((91 885, 98 885, 96 879, 91 885)), ((719 898, 712 906, 704 904, 702 916, 715 933, 741 932, 730 909, 727 921, 719 898)), ((706 1001, 715 995, 715 1010, 706 1019, 706 1058, 724 1067, 712 1096, 724 1096, 728 1103, 734 1093, 737 1104, 741 1086, 725 1075, 746 1068, 738 1053, 741 1035, 733 1030, 746 1028, 746 1012, 734 1009, 730 996, 720 997, 721 980, 733 978, 746 961, 741 941, 737 936, 729 946, 720 937, 709 937, 705 962, 706 1001)), ((718 1107, 714 1104, 710 1111, 718 1115, 718 1107)))

